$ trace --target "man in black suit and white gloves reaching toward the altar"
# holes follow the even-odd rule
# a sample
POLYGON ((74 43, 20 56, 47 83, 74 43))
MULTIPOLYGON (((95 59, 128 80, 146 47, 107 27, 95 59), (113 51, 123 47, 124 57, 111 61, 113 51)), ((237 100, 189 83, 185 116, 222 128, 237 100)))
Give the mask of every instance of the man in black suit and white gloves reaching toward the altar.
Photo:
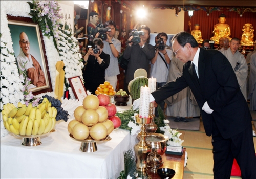
POLYGON ((255 179, 252 117, 231 64, 219 51, 198 48, 187 32, 176 34, 172 43, 176 58, 185 63, 183 74, 158 88, 151 99, 159 103, 189 86, 201 110, 206 135, 212 136, 214 178, 230 178, 235 158, 242 178, 255 179))

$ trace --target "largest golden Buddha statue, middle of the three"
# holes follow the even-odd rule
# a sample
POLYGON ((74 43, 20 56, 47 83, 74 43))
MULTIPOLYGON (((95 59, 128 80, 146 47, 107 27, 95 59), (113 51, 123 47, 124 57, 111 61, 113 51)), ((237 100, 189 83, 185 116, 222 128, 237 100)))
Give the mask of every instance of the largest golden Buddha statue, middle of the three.
POLYGON ((214 36, 210 38, 210 40, 215 41, 216 44, 219 44, 219 39, 221 37, 227 37, 229 40, 231 40, 229 37, 231 35, 230 26, 225 23, 226 16, 225 14, 221 14, 219 16, 219 23, 214 26, 214 36))

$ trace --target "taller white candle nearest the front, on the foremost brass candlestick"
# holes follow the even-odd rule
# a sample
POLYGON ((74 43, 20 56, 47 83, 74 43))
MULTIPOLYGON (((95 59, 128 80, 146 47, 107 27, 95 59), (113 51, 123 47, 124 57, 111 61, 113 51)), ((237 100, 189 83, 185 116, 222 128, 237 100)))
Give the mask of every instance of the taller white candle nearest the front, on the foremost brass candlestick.
POLYGON ((150 110, 150 88, 140 87, 140 118, 148 118, 150 110))

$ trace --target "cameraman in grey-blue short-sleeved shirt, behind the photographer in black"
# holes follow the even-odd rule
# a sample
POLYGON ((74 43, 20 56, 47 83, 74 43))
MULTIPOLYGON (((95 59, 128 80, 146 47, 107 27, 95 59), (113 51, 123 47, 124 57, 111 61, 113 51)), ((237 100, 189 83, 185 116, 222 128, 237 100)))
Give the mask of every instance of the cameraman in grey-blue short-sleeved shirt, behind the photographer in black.
MULTIPOLYGON (((116 90, 117 75, 120 74, 117 57, 121 51, 121 42, 114 38, 116 33, 116 24, 114 21, 106 21, 105 27, 110 29, 110 31, 106 32, 106 40, 103 40, 103 52, 110 55, 110 65, 105 70, 105 80, 109 81, 113 88, 116 90)), ((98 32, 95 37, 98 38, 99 35, 100 33, 98 32)))

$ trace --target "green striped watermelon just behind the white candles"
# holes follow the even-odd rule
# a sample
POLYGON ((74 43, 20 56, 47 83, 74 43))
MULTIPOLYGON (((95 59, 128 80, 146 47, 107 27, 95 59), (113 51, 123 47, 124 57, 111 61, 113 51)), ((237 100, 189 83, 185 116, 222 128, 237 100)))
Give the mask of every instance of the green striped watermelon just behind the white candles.
POLYGON ((133 100, 140 98, 140 87, 141 86, 148 86, 148 78, 139 76, 132 80, 130 85, 130 94, 133 100))

